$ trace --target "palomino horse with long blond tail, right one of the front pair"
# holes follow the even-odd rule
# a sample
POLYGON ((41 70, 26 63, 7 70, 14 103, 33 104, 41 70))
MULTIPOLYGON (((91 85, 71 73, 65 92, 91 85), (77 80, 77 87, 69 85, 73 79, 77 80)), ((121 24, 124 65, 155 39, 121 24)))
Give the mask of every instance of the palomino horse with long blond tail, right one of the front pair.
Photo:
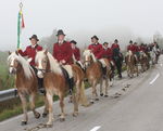
MULTIPOLYGON (((53 95, 58 95, 60 99, 61 116, 60 120, 65 119, 64 112, 64 97, 70 91, 68 81, 65 77, 65 69, 54 60, 54 57, 47 51, 39 51, 36 54, 36 64, 38 69, 38 77, 43 78, 43 84, 46 88, 46 96, 48 100, 49 120, 47 126, 52 126, 53 121, 53 95), (63 71, 64 70, 64 71, 63 71)), ((87 100, 85 96, 84 87, 84 74, 82 69, 76 65, 67 65, 67 71, 72 73, 74 78, 75 89, 73 90, 73 116, 78 115, 78 103, 87 106, 87 100)), ((70 74, 68 74, 70 75, 70 74)))

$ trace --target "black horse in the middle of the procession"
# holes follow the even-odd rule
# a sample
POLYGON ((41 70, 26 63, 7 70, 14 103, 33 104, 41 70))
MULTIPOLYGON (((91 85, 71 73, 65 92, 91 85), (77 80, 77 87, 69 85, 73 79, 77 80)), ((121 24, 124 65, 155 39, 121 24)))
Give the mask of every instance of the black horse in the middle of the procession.
POLYGON ((118 51, 118 49, 113 50, 112 60, 114 61, 115 67, 117 69, 118 78, 122 78, 123 54, 118 51))

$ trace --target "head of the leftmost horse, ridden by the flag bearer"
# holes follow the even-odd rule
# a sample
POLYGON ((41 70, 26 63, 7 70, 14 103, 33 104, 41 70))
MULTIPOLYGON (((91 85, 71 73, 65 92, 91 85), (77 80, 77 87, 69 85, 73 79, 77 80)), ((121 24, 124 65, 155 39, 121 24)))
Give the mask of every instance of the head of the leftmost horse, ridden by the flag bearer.
POLYGON ((8 63, 9 63, 9 74, 15 75, 20 67, 18 53, 9 52, 8 63))

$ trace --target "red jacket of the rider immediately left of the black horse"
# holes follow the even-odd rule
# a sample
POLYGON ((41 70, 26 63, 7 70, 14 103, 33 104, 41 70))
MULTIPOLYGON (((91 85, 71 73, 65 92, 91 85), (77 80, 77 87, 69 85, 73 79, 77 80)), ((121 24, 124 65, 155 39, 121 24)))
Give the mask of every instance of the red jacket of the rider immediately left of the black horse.
POLYGON ((104 49, 102 48, 101 52, 98 54, 97 58, 108 58, 109 61, 112 61, 112 50, 110 48, 104 49))

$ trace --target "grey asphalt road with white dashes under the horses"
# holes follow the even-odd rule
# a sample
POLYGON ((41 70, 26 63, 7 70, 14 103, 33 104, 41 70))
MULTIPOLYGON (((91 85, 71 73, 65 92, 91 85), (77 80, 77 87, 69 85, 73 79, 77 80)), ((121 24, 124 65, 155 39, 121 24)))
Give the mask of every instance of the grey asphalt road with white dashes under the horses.
MULTIPOLYGON (((123 74, 110 88, 109 97, 101 97, 90 107, 79 107, 73 117, 73 105, 66 100, 66 119, 60 122, 59 103, 54 103, 52 128, 43 128, 47 118, 35 119, 29 113, 27 126, 22 115, 0 122, 0 131, 163 131, 163 56, 154 67, 133 79, 123 74), (122 95, 117 95, 122 94, 122 95)), ((90 96, 90 89, 87 90, 90 96)), ((42 108, 38 109, 42 113, 42 108)))

